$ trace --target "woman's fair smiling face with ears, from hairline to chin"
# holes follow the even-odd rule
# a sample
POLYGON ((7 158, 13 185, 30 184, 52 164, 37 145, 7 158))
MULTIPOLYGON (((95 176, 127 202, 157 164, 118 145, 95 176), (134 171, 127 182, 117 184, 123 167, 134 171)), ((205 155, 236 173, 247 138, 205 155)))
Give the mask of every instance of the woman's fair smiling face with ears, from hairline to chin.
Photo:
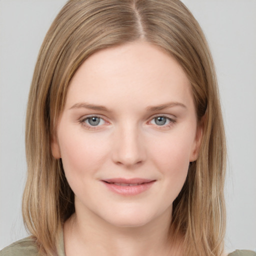
POLYGON ((51 147, 62 159, 77 216, 142 226, 170 216, 200 134, 184 71, 139 41, 83 62, 51 147))

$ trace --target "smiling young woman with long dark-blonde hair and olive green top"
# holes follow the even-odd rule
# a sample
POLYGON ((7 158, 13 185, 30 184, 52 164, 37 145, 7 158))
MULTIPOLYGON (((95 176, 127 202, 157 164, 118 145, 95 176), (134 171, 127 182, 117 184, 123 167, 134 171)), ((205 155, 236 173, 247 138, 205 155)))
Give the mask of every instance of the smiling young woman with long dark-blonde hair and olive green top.
POLYGON ((68 1, 36 63, 26 153, 32 236, 0 255, 223 254, 215 72, 181 2, 68 1))

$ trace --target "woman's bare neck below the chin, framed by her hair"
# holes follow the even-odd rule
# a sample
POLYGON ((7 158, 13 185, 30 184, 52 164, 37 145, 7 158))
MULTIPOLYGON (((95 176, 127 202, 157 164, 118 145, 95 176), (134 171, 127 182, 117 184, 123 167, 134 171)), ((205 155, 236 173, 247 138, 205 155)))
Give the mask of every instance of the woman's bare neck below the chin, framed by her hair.
POLYGON ((79 213, 74 213, 64 223, 66 256, 178 255, 177 239, 174 242, 169 230, 171 209, 135 227, 115 226, 91 212, 89 216, 85 214, 86 217, 79 213))

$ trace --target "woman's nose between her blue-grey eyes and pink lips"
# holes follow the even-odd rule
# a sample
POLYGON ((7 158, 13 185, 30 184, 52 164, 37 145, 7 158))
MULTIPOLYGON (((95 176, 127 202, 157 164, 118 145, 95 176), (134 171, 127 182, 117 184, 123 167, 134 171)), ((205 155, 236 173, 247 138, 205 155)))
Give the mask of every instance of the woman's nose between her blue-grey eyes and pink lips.
POLYGON ((116 164, 133 167, 144 162, 146 158, 145 144, 134 126, 120 127, 114 136, 112 159, 116 164))

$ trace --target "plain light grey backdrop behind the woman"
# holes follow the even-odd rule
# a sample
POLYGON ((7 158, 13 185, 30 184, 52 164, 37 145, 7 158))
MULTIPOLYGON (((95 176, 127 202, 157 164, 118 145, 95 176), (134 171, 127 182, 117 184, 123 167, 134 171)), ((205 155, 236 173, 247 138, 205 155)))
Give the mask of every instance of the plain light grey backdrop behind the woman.
MULTIPOLYGON (((226 248, 256 249, 256 0, 183 0, 215 61, 228 143, 226 248)), ((26 236, 27 94, 43 37, 65 0, 0 0, 0 249, 26 236)))

